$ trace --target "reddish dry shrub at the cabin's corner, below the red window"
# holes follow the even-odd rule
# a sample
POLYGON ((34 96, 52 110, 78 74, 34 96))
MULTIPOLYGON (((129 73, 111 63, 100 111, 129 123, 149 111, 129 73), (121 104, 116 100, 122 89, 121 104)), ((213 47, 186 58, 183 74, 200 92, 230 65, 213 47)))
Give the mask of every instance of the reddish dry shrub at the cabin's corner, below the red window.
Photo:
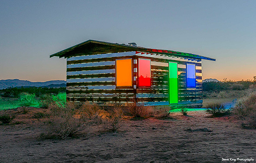
POLYGON ((135 118, 145 117, 148 114, 148 107, 144 106, 144 103, 137 103, 135 99, 131 100, 131 103, 127 105, 128 112, 135 118))

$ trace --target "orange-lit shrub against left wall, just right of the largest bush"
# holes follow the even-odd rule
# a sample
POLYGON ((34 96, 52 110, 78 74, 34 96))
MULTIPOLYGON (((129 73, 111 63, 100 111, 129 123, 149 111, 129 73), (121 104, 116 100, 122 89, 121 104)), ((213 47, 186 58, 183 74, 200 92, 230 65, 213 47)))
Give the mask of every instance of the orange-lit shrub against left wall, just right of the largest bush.
POLYGON ((102 123, 101 109, 98 104, 89 103, 88 101, 78 104, 79 114, 84 115, 89 120, 94 121, 97 124, 102 123))

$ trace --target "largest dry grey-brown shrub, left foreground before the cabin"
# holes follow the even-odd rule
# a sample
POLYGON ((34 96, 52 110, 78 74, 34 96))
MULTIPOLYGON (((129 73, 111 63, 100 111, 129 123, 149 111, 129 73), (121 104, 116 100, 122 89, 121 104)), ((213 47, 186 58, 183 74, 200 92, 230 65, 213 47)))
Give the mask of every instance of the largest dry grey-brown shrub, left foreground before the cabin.
POLYGON ((83 115, 76 114, 75 105, 67 103, 66 107, 52 104, 51 114, 47 125, 47 135, 56 135, 62 140, 73 137, 79 131, 84 130, 86 135, 90 132, 91 121, 83 115))

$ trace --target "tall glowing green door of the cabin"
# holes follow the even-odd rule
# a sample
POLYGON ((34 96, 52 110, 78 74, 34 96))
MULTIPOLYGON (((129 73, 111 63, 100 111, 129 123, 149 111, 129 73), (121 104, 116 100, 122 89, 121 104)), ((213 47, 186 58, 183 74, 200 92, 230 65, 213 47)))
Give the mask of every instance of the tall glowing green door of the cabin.
POLYGON ((178 72, 174 62, 169 62, 169 103, 178 103, 178 72))

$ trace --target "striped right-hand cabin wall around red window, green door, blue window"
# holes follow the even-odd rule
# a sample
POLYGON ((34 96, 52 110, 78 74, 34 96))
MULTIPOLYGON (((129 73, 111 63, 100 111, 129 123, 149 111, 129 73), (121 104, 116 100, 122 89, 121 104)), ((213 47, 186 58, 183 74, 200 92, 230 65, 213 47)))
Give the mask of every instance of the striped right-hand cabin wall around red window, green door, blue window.
POLYGON ((168 63, 177 62, 178 104, 173 106, 202 106, 202 63, 201 60, 188 60, 164 55, 137 52, 137 58, 151 59, 151 88, 137 88, 136 98, 146 105, 168 105, 168 63), (196 65, 196 87, 187 88, 186 64, 196 65))

